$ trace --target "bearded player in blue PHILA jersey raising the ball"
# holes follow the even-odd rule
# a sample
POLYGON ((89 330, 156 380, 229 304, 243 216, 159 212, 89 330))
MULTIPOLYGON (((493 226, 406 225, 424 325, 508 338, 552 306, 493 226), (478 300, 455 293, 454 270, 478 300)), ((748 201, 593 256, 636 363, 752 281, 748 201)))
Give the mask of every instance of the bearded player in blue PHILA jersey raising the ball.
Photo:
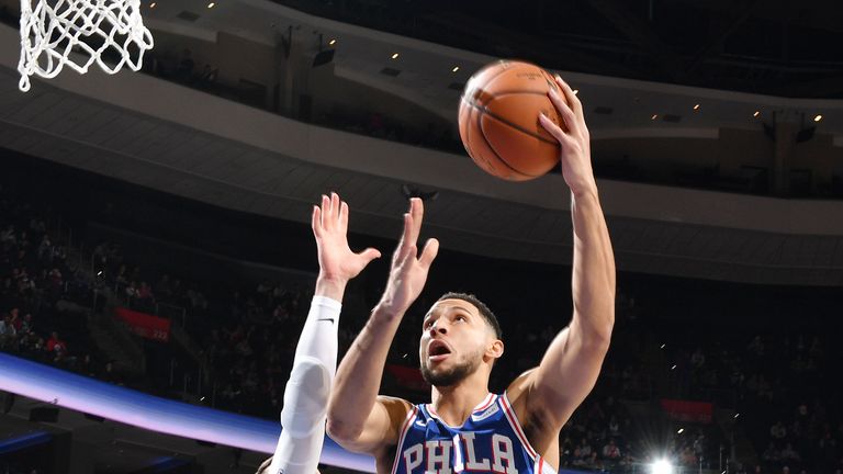
MULTIPOLYGON (((571 191, 573 318, 538 366, 495 395, 488 392, 490 373, 504 353, 497 320, 475 297, 446 294, 420 328, 418 352, 422 373, 432 385, 431 403, 412 405, 378 396, 392 339, 422 292, 438 250, 438 242, 430 239, 418 256, 423 206, 413 200, 386 289, 340 362, 328 404, 329 436, 348 450, 372 454, 379 474, 522 474, 559 469, 560 430, 594 387, 609 347, 615 263, 583 108, 571 88, 560 78, 557 81, 561 92, 551 92, 550 99, 565 126, 538 119, 559 140, 562 174, 571 191)), ((561 315, 541 316, 562 323, 561 315)))

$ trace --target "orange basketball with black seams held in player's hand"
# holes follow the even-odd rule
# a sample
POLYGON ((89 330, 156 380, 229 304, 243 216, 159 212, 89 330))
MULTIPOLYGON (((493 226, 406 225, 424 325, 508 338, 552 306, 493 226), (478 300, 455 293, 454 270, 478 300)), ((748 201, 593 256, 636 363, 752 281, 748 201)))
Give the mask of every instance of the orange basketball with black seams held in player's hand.
POLYGON ((460 100, 460 138, 484 171, 509 181, 538 178, 559 162, 559 143, 539 123, 562 119, 548 97, 553 76, 529 63, 499 60, 475 72, 460 100))

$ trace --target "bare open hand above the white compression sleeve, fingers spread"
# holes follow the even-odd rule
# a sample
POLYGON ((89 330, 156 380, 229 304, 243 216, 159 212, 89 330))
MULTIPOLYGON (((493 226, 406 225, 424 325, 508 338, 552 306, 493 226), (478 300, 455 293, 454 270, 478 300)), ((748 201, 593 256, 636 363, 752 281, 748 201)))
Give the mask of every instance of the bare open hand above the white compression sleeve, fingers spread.
POLYGON ((311 222, 319 257, 319 280, 345 285, 381 252, 367 248, 353 252, 348 247, 348 204, 337 193, 322 196, 322 205, 313 206, 311 222))

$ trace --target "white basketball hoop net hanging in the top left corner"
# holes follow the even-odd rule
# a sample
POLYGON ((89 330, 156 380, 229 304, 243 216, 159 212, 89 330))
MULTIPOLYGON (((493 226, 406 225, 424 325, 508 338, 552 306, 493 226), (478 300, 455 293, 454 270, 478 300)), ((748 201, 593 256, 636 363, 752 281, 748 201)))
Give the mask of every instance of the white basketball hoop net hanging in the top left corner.
POLYGON ((153 35, 140 18, 140 0, 21 0, 21 74, 54 78, 68 66, 79 74, 97 63, 108 74, 139 70, 153 35), (71 54, 72 53, 72 54, 71 54))

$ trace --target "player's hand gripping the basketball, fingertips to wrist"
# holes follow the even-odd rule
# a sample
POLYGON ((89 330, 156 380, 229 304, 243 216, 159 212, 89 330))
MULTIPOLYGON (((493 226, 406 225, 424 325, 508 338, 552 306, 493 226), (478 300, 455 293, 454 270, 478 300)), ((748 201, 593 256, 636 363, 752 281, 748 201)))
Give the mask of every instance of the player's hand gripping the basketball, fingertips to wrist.
POLYGON ((555 79, 559 91, 551 88, 548 95, 565 126, 560 127, 543 114, 539 114, 539 122, 559 142, 562 177, 571 192, 577 195, 597 189, 592 170, 591 137, 585 125, 582 102, 561 77, 557 76, 555 79))

